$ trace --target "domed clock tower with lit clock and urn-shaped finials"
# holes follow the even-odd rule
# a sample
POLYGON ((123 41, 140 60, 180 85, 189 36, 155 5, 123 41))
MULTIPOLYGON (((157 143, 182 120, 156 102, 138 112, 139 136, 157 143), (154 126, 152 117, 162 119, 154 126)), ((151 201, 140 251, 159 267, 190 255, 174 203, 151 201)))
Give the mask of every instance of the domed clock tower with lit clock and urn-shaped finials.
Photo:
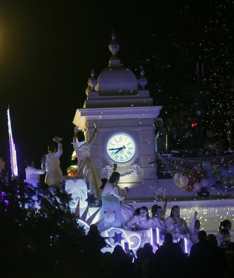
POLYGON ((154 198, 158 188, 155 163, 154 123, 161 106, 153 106, 144 70, 137 81, 128 68, 123 67, 116 54, 119 44, 112 33, 108 45, 112 53, 109 66, 98 78, 94 71, 86 89, 87 100, 77 109, 73 123, 82 128, 88 141, 98 124, 97 136, 91 147, 91 157, 101 178, 109 178, 113 164, 121 174, 119 186, 127 187, 127 200, 154 198), (139 89, 140 85, 140 89, 139 89))

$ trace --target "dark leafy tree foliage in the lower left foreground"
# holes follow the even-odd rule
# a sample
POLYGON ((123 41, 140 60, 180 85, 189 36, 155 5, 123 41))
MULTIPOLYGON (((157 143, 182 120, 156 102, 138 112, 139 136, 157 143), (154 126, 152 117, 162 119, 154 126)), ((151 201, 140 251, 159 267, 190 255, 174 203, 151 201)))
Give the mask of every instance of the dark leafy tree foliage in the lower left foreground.
POLYGON ((68 202, 66 194, 44 183, 33 188, 17 180, 0 180, 2 274, 66 277, 74 266, 82 273, 85 231, 67 209, 68 202), (39 209, 30 207, 35 196, 40 201, 39 209))

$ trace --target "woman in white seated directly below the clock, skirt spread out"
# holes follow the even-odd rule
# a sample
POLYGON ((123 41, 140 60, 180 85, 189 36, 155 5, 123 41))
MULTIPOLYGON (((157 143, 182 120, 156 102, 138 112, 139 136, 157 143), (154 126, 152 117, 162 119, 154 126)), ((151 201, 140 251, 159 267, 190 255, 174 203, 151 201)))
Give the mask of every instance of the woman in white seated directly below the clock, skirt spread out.
MULTIPOLYGON (((110 179, 102 191, 102 196, 116 196, 119 201, 126 199, 125 195, 121 195, 120 187, 117 185, 119 182, 120 174, 113 172, 110 179)), ((132 219, 135 209, 129 204, 120 204, 121 222, 123 227, 127 228, 127 223, 132 219)))

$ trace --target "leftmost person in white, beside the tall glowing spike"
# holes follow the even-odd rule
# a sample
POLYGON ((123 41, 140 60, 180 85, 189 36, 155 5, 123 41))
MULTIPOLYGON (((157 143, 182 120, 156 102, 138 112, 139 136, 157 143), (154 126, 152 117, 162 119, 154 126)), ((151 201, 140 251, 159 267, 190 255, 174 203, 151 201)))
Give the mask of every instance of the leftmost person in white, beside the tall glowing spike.
POLYGON ((40 175, 43 175, 45 173, 45 157, 41 158, 41 169, 34 168, 35 161, 33 158, 25 158, 24 163, 27 166, 27 168, 25 169, 26 180, 40 180, 40 175))

